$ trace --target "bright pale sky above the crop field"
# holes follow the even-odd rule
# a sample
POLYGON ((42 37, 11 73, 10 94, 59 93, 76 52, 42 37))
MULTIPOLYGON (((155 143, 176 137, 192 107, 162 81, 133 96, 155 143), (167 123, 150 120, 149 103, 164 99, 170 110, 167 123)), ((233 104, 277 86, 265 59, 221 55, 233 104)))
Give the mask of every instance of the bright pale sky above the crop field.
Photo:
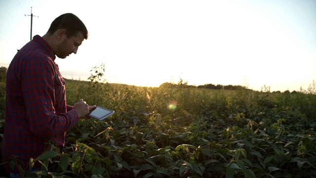
POLYGON ((300 90, 316 80, 316 0, 0 0, 0 66, 63 13, 88 29, 56 58, 66 79, 105 64, 108 83, 300 90))

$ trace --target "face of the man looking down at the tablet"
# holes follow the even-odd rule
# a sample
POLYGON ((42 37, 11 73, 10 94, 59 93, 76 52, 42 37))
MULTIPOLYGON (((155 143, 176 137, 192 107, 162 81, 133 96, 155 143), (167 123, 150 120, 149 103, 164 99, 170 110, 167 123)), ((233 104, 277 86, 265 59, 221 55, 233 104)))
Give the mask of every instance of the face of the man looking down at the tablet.
POLYGON ((65 34, 64 40, 57 46, 56 56, 64 59, 71 53, 76 54, 83 40, 84 37, 82 33, 78 33, 77 36, 70 37, 69 39, 65 34))

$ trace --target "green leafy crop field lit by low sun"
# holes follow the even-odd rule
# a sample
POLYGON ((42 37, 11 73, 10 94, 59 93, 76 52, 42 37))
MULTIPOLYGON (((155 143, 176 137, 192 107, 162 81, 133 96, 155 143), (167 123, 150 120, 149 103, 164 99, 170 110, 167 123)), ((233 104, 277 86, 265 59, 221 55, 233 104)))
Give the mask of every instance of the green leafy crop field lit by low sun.
POLYGON ((66 88, 70 105, 83 98, 115 114, 103 121, 79 120, 63 151, 49 143, 49 150, 30 160, 42 164, 38 175, 316 177, 316 95, 310 92, 191 89, 182 81, 142 88, 69 80, 66 88))

